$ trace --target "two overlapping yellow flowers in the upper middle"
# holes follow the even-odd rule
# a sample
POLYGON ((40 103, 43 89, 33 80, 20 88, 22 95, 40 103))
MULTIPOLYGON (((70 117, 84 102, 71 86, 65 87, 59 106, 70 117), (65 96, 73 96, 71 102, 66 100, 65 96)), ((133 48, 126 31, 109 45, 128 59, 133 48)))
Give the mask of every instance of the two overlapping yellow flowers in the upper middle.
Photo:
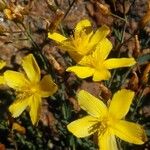
POLYGON ((77 62, 76 66, 67 69, 68 72, 74 72, 82 79, 93 76, 93 81, 101 81, 110 79, 109 69, 130 67, 136 63, 134 58, 107 59, 112 49, 106 38, 109 32, 105 25, 94 32, 91 23, 82 20, 76 25, 73 37, 66 38, 58 33, 49 33, 48 37, 58 42, 59 47, 77 62))

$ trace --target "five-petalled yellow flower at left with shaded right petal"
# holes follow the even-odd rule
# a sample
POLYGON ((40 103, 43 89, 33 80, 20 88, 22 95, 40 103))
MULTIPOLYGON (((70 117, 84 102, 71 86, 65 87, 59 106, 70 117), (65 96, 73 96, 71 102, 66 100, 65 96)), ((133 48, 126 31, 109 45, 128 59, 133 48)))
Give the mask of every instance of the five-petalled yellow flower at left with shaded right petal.
POLYGON ((18 117, 29 108, 31 121, 35 124, 39 119, 42 98, 53 95, 57 91, 57 85, 50 75, 41 79, 40 68, 32 54, 24 57, 22 67, 25 74, 11 70, 4 73, 6 84, 15 89, 17 94, 9 111, 13 117, 18 117))

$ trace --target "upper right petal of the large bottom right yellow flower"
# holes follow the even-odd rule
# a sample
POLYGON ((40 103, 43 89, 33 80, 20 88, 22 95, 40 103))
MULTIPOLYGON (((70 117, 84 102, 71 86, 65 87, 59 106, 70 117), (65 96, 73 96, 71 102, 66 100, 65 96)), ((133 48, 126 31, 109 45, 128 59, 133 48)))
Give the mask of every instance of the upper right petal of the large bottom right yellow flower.
POLYGON ((129 111, 133 97, 134 92, 131 90, 122 89, 116 92, 110 103, 109 113, 117 119, 123 118, 129 111))

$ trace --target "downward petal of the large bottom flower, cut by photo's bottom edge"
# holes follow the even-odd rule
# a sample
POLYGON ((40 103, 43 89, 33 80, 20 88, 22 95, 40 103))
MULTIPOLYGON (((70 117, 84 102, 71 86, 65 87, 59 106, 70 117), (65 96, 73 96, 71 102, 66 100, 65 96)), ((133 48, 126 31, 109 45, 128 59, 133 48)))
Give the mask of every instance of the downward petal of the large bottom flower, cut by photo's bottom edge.
POLYGON ((118 150, 116 138, 110 134, 109 130, 99 133, 98 145, 100 150, 118 150))

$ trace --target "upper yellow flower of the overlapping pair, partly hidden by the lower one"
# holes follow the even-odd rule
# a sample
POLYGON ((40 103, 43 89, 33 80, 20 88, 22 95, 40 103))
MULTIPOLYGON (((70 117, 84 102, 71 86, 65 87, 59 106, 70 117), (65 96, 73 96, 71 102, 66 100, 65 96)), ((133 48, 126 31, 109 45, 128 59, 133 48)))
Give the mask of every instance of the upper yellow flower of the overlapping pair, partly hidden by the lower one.
POLYGON ((48 37, 56 41, 61 49, 67 51, 78 62, 83 56, 95 50, 96 45, 106 38, 109 32, 105 25, 93 32, 90 21, 85 19, 76 25, 73 37, 66 38, 56 32, 49 32, 48 37))

